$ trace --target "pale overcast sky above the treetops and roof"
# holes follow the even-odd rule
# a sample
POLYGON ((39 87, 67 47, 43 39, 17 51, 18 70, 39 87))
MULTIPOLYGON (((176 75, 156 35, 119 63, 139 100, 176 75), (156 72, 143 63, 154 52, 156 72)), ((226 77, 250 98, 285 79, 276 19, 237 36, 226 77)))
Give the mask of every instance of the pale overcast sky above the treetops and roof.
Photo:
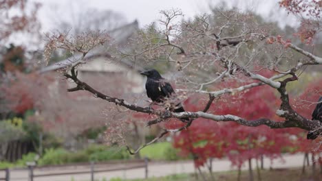
MULTIPOLYGON (((193 18, 198 14, 210 12, 209 5, 216 7, 223 0, 30 0, 42 4, 39 10, 41 34, 53 32, 60 27, 57 22, 71 22, 73 12, 79 9, 112 10, 125 16, 128 23, 138 20, 139 26, 144 27, 160 19, 160 10, 173 8, 182 10, 185 19, 193 18)), ((252 10, 267 21, 277 21, 281 27, 286 24, 295 26, 299 22, 287 12, 279 8, 280 0, 224 0, 228 7, 237 6, 241 10, 252 10)), ((77 13, 74 13, 77 14, 77 13)), ((85 14, 86 16, 87 14, 85 14)), ((72 21, 74 22, 74 21, 72 21)), ((17 34, 10 37, 8 43, 28 45, 28 49, 41 49, 43 41, 29 36, 17 34)))

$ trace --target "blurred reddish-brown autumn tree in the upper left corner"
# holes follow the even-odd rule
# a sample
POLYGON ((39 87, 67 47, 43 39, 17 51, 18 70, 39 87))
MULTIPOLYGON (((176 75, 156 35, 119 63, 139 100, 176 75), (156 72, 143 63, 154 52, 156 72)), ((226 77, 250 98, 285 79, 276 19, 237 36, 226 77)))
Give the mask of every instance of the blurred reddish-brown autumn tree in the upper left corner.
MULTIPOLYGON (((10 112, 10 102, 5 99, 6 93, 3 88, 9 86, 14 79, 16 71, 30 71, 32 61, 26 58, 26 49, 23 45, 14 45, 13 40, 18 34, 26 37, 39 35, 40 24, 36 13, 40 7, 39 3, 28 3, 25 0, 9 0, 0 2, 0 115, 6 117, 10 112)), ((30 56, 31 57, 31 56, 30 56)))

